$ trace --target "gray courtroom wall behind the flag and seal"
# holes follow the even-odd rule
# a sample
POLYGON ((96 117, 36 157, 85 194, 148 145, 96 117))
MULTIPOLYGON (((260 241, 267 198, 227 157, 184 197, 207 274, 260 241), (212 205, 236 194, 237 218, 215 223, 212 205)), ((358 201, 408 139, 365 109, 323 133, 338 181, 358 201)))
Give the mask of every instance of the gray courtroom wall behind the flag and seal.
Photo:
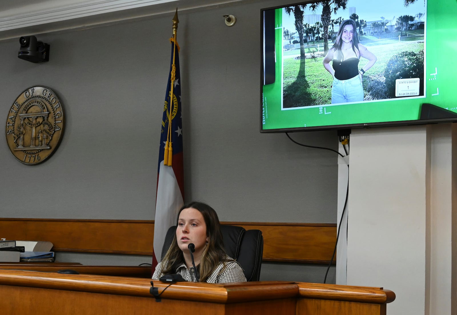
MULTIPOLYGON (((185 199, 209 203, 222 221, 335 223, 336 154, 259 132, 260 8, 279 4, 179 13, 185 199), (237 17, 233 27, 224 14, 237 17)), ((41 34, 38 40, 51 45, 48 63, 17 58, 17 38, 0 42, 4 119, 17 95, 38 84, 58 94, 66 119, 60 147, 42 164, 23 165, 6 144, 0 149, 1 216, 154 219, 172 17, 41 34)), ((337 149, 335 131, 291 136, 337 149)), ((58 254, 83 263, 150 262, 58 254)), ((322 282, 324 273, 320 266, 265 263, 261 278, 322 282)))

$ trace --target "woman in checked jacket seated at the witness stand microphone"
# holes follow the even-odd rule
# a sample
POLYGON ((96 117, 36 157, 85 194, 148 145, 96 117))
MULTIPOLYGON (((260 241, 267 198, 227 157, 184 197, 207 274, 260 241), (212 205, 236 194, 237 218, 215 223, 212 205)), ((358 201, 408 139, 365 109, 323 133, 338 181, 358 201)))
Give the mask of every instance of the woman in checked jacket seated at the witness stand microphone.
POLYGON ((175 237, 152 278, 173 273, 180 274, 186 281, 246 281, 239 263, 225 253, 218 215, 209 205, 191 202, 179 210, 175 237), (192 264, 189 244, 195 248, 196 268, 192 264))

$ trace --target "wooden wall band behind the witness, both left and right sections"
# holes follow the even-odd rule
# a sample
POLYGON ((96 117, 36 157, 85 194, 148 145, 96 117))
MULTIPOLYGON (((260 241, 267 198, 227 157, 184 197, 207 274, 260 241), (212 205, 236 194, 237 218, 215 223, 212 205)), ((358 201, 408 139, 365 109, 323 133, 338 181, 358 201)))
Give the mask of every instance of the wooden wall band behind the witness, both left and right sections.
MULTIPOLYGON (((221 222, 259 229, 264 261, 329 263, 335 224, 221 222)), ((0 238, 50 241, 56 252, 152 255, 153 220, 0 219, 0 238)))

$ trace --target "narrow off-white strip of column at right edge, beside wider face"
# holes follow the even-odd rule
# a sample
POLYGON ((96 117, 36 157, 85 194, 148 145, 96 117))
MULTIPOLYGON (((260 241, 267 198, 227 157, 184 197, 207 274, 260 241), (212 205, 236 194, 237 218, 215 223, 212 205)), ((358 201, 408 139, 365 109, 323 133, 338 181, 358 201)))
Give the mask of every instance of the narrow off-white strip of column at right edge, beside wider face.
POLYGON ((457 124, 430 133, 430 213, 426 235, 425 314, 457 314, 457 124), (454 142, 454 143, 452 143, 454 142), (454 235, 453 235, 454 234, 454 235))

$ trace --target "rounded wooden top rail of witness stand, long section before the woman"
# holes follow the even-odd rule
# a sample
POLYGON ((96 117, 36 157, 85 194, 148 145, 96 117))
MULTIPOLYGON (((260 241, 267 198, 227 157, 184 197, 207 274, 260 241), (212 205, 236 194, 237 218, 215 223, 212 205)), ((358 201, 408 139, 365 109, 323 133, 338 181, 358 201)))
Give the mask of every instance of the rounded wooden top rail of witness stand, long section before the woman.
MULTIPOLYGON (((158 288, 161 293, 169 285, 169 283, 162 283, 158 280, 152 282, 154 287, 158 288)), ((150 278, 138 279, 0 269, 0 284, 151 297, 149 293, 149 288, 151 287, 150 278)), ((298 286, 294 282, 264 281, 218 284, 179 282, 167 288, 160 296, 164 299, 209 303, 240 303, 269 300, 271 296, 276 299, 287 299, 297 295, 298 286)))

